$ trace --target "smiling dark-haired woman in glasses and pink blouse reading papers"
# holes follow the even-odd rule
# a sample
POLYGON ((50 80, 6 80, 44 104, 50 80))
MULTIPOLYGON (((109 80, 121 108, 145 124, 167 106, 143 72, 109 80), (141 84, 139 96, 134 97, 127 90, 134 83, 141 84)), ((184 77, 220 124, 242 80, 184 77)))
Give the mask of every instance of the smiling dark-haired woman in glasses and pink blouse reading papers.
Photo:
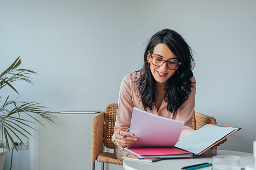
MULTIPOLYGON (((126 75, 121 83, 115 133, 115 155, 130 153, 123 150, 137 142, 130 127, 132 109, 137 107, 152 114, 184 121, 180 139, 191 134, 195 106, 196 80, 191 48, 177 32, 164 29, 149 40, 143 67, 126 75), (121 136, 125 137, 121 140, 121 136)), ((163 129, 164 130, 164 129, 163 129)), ((167 131, 166 131, 167 133, 167 131)))

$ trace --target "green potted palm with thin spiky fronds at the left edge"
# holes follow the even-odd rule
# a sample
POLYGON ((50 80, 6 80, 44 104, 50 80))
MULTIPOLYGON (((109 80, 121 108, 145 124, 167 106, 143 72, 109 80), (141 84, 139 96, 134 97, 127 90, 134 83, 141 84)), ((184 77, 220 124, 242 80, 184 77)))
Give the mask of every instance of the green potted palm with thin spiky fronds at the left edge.
MULTIPOLYGON (((28 77, 28 75, 36 74, 36 72, 27 69, 19 69, 18 67, 20 66, 20 64, 21 59, 20 57, 18 57, 9 68, 7 68, 2 74, 0 74, 0 134, 2 135, 2 140, 6 140, 6 145, 9 153, 11 143, 18 151, 14 141, 14 137, 18 138, 20 142, 23 143, 20 136, 24 136, 25 138, 29 139, 28 136, 31 134, 26 129, 33 128, 30 126, 30 124, 35 122, 42 124, 41 122, 39 122, 39 120, 35 119, 32 114, 38 114, 51 124, 55 123, 51 119, 51 115, 49 115, 47 111, 43 110, 45 109, 45 107, 40 106, 40 103, 16 101, 19 96, 14 100, 9 99, 10 96, 5 99, 1 97, 1 91, 6 88, 14 90, 19 95, 16 87, 13 85, 13 83, 16 81, 26 81, 30 84, 33 84, 33 82, 30 80, 31 78, 28 77), (23 118, 22 115, 24 114, 32 117, 32 120, 35 120, 35 122, 23 118)), ((7 150, 4 149, 4 146, 3 149, 0 149, 0 152, 1 151, 2 155, 7 152, 7 150)), ((3 169, 3 167, 0 167, 0 169, 3 169)))

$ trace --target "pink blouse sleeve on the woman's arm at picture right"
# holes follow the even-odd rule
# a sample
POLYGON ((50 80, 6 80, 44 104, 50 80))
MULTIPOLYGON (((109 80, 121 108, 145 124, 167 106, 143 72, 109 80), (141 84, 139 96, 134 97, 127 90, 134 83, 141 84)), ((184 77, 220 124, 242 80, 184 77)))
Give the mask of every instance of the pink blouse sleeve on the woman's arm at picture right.
POLYGON ((195 109, 195 96, 196 96, 196 79, 194 76, 191 78, 191 81, 193 85, 192 91, 189 95, 188 100, 186 100, 180 107, 180 110, 178 113, 180 115, 179 116, 180 119, 185 122, 179 140, 183 139, 184 137, 190 135, 195 131, 194 129, 191 128, 193 113, 195 109))

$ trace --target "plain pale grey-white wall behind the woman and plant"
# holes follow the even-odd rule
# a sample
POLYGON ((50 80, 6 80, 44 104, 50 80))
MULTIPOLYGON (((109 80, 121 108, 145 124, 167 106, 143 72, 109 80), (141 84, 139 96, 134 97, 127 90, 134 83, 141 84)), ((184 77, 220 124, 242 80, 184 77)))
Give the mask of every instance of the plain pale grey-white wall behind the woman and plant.
POLYGON ((21 67, 38 76, 34 86, 17 83, 20 94, 26 93, 20 99, 42 102, 49 111, 104 110, 117 103, 123 76, 140 68, 145 42, 161 29, 173 29, 195 52, 196 111, 218 124, 242 127, 219 148, 252 152, 255 5, 253 0, 2 0, 0 72, 21 56, 21 67))

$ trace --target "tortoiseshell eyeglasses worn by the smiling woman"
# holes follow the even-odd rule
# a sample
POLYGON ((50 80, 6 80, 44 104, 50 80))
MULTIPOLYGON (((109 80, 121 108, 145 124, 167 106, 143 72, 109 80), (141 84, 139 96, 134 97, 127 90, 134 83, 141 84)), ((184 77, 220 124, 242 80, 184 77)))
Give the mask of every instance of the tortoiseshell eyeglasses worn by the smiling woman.
POLYGON ((161 66, 163 65, 163 63, 166 63, 167 64, 167 68, 170 69, 170 70, 177 70, 179 68, 179 66, 182 64, 182 63, 179 63, 177 61, 174 61, 174 60, 164 60, 158 56, 153 56, 151 55, 151 63, 154 65, 154 66, 161 66))

